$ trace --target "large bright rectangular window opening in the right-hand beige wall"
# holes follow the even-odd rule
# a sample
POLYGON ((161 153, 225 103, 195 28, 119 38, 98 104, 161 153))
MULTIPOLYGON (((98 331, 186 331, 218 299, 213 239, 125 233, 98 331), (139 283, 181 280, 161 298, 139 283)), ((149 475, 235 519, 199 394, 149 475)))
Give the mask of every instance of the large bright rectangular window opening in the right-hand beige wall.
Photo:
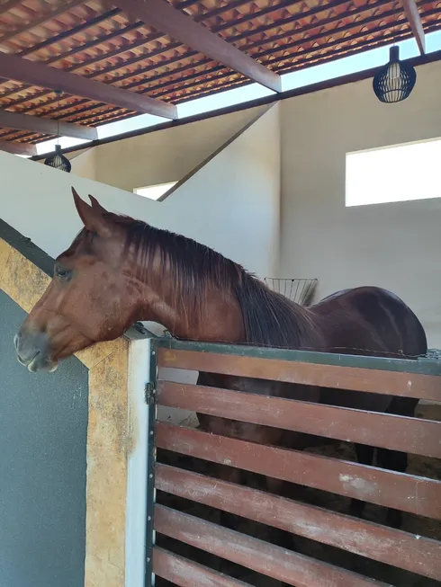
POLYGON ((346 205, 441 198, 440 165, 440 138, 347 153, 346 205))

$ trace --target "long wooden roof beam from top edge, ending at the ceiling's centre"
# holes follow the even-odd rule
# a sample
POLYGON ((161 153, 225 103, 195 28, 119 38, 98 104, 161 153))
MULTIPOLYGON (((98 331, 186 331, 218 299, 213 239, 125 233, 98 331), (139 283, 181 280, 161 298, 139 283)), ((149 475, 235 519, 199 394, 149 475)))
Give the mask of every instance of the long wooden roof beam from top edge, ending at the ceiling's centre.
POLYGON ((257 84, 265 85, 275 92, 282 92, 281 77, 275 72, 250 58, 199 22, 193 21, 190 16, 177 10, 166 0, 112 0, 112 4, 131 17, 238 71, 257 84))

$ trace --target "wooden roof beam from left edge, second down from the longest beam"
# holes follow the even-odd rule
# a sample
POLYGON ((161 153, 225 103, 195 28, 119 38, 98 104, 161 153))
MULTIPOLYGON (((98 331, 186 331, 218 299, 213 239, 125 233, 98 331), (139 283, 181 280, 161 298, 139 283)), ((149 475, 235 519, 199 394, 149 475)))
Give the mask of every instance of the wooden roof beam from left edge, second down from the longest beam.
POLYGON ((173 104, 155 100, 139 93, 122 90, 115 85, 103 84, 93 79, 69 74, 56 67, 45 66, 38 61, 6 55, 0 52, 0 77, 14 79, 24 84, 37 85, 49 90, 66 92, 95 102, 120 106, 130 111, 154 114, 166 119, 177 118, 173 104))

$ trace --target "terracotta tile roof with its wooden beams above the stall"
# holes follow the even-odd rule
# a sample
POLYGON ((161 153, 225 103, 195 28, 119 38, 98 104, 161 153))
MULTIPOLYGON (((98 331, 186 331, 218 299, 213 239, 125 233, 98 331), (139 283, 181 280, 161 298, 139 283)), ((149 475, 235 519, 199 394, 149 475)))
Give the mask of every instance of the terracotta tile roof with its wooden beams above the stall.
POLYGON ((253 81, 280 92, 282 74, 394 41, 424 52, 440 28, 441 0, 0 0, 0 148, 173 120, 253 81))

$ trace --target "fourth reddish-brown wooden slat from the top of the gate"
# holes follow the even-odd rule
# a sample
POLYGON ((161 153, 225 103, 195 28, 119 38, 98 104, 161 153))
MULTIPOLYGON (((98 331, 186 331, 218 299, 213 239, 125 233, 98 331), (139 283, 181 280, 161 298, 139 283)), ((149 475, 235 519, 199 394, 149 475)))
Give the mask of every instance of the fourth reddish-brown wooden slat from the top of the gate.
POLYGON ((441 542, 157 464, 157 489, 441 581, 441 542))

